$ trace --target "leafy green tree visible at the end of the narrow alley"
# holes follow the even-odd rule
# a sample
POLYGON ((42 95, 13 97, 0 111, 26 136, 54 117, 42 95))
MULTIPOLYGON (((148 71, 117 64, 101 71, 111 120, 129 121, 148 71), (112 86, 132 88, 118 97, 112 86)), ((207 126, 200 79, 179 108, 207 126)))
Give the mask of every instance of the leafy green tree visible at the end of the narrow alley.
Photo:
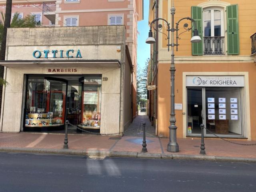
POLYGON ((148 62, 149 58, 145 62, 143 68, 138 67, 137 70, 137 104, 140 107, 144 107, 147 102, 147 78, 148 78, 148 62))

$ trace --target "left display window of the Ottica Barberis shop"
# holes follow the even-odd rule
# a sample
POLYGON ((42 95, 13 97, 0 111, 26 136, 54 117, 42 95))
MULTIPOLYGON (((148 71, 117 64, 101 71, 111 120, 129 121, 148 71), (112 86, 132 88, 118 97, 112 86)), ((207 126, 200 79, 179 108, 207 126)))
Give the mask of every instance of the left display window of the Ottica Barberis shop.
POLYGON ((64 125, 66 82, 28 77, 25 127, 64 125))

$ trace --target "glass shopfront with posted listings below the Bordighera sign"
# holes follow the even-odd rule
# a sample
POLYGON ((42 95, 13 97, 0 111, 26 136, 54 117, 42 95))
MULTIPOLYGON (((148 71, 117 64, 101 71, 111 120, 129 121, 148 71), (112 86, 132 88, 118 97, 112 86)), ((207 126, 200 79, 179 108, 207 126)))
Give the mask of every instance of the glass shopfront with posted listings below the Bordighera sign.
POLYGON ((242 137, 242 102, 240 87, 188 87, 187 133, 200 134, 204 124, 206 136, 242 137))

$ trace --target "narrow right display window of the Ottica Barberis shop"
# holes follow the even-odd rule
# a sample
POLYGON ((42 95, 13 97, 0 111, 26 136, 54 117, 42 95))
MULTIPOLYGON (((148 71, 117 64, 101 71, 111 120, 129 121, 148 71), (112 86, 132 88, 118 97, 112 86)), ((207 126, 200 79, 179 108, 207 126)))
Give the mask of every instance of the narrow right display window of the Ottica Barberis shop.
POLYGON ((82 122, 81 128, 100 128, 101 119, 101 76, 85 76, 82 80, 82 122))

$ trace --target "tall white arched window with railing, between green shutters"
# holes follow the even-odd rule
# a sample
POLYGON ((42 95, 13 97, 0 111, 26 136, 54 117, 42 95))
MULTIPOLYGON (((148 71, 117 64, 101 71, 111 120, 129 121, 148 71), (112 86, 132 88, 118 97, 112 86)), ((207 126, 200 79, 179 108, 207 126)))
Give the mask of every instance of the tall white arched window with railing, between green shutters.
POLYGON ((203 11, 204 54, 224 54, 223 11, 206 9, 203 11))

